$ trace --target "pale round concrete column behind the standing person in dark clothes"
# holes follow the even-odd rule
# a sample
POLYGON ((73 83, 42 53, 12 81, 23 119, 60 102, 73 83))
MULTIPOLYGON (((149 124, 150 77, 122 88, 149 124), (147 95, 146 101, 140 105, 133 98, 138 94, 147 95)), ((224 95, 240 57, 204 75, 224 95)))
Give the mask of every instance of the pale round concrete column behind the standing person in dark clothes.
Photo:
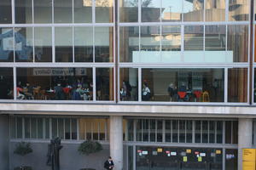
POLYGON ((123 169, 123 116, 110 116, 110 156, 114 169, 123 169))

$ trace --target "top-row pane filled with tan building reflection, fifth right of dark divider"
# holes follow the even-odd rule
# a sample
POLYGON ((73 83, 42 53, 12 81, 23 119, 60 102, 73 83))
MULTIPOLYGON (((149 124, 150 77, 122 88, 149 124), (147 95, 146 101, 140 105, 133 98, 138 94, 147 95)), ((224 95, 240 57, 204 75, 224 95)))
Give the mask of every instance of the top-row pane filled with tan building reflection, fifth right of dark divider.
POLYGON ((224 21, 225 6, 225 0, 206 0, 206 21, 224 21))

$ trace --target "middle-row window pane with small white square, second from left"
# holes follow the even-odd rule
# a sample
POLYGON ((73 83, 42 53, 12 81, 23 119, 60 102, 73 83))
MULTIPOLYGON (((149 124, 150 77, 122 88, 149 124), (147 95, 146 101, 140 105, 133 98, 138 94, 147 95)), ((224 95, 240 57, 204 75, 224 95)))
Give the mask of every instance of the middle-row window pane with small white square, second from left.
POLYGON ((15 28, 15 61, 33 61, 32 28, 15 28))

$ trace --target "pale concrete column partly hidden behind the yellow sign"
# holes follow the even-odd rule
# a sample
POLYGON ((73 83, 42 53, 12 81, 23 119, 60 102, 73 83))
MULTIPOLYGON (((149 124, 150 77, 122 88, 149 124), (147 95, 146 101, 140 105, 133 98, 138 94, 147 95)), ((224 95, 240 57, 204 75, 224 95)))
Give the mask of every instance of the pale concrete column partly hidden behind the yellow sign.
POLYGON ((238 121, 238 169, 242 169, 242 149, 252 148, 253 119, 240 118, 238 121))

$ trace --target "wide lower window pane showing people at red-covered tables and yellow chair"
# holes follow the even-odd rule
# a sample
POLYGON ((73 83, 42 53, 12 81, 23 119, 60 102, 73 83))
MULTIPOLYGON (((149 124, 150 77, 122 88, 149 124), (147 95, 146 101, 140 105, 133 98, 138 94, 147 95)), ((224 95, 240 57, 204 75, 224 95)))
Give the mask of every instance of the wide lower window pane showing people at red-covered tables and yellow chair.
POLYGON ((142 77, 143 101, 224 101, 224 69, 143 69, 142 77))

